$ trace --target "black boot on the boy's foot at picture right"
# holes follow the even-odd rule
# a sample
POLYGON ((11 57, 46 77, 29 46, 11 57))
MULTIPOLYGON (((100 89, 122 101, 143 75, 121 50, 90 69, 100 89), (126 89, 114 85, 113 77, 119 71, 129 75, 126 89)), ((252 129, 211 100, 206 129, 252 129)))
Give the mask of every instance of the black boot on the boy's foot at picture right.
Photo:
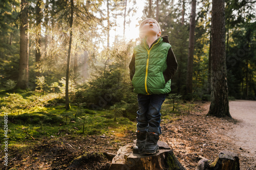
POLYGON ((146 145, 143 154, 153 155, 159 151, 157 141, 159 140, 159 134, 147 132, 146 145))

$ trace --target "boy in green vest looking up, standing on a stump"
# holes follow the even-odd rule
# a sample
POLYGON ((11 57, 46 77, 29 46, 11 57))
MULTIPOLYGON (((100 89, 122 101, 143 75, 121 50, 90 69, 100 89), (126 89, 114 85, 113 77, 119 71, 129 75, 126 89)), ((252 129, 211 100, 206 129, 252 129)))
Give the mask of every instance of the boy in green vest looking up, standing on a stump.
POLYGON ((134 47, 129 65, 134 92, 138 93, 137 142, 134 153, 153 155, 158 152, 161 134, 160 109, 165 95, 170 92, 170 79, 178 63, 168 36, 161 36, 159 23, 152 18, 143 20, 139 27, 141 43, 134 47))

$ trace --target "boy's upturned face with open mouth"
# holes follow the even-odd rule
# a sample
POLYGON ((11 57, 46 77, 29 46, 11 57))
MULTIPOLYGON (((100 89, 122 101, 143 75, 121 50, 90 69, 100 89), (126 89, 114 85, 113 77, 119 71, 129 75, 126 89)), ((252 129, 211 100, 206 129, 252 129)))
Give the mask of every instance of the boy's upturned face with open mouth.
POLYGON ((143 34, 144 36, 146 35, 161 36, 161 31, 157 25, 157 22, 152 19, 148 19, 144 22, 144 24, 140 28, 140 33, 143 34))

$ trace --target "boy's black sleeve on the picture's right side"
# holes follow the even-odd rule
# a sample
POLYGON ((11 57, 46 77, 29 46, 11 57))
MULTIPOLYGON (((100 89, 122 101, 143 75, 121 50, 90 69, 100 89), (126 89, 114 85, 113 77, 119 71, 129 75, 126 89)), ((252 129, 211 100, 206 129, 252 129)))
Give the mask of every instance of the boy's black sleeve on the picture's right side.
POLYGON ((167 83, 174 76, 178 69, 178 63, 174 55, 172 47, 169 48, 167 58, 166 58, 167 68, 163 71, 163 77, 165 83, 167 83))

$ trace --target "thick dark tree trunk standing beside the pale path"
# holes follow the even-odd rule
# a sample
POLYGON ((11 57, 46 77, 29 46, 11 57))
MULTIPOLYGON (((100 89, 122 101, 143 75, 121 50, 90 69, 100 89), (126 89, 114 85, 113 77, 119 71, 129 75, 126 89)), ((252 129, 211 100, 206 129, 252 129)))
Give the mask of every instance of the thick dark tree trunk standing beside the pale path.
POLYGON ((224 0, 213 0, 211 13, 211 103, 208 115, 217 117, 231 117, 227 89, 224 3, 224 0))

